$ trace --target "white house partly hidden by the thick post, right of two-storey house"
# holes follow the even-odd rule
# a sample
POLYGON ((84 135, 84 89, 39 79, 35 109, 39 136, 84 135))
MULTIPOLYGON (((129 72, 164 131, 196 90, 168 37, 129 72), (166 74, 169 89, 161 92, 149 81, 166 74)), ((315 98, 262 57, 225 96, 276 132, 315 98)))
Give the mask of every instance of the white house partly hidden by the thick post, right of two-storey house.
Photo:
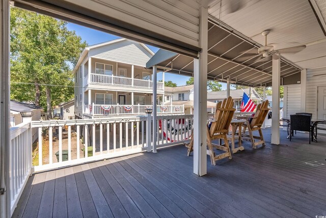
MULTIPOLYGON (((194 85, 165 87, 165 105, 184 106, 184 114, 194 114, 194 85)), ((207 101, 207 112, 214 113, 215 103, 207 101)))

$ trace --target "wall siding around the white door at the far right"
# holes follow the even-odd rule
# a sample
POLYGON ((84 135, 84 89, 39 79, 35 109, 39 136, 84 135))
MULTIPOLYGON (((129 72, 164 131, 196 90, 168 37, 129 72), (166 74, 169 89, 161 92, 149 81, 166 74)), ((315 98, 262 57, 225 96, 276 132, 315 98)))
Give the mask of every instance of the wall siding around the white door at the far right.
POLYGON ((326 86, 326 76, 313 76, 326 73, 326 68, 307 70, 306 112, 317 118, 317 87, 326 86))

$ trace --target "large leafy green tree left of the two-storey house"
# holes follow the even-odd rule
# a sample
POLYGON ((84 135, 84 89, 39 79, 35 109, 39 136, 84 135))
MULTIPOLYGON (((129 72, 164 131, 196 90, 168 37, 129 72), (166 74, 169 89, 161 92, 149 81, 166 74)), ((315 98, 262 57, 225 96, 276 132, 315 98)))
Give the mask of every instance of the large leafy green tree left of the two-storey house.
POLYGON ((18 8, 10 13, 11 99, 32 101, 51 118, 53 104, 74 96, 71 71, 87 43, 65 21, 18 8))

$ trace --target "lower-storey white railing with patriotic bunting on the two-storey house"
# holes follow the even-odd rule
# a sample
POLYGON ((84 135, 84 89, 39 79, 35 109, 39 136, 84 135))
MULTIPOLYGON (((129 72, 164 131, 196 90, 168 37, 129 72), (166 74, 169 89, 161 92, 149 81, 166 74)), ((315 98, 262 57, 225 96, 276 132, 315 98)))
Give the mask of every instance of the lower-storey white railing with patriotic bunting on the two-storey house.
MULTIPOLYGON (((146 108, 152 105, 92 104, 84 105, 84 114, 88 115, 145 115, 146 108)), ((184 106, 157 105, 157 114, 183 114, 184 106)))

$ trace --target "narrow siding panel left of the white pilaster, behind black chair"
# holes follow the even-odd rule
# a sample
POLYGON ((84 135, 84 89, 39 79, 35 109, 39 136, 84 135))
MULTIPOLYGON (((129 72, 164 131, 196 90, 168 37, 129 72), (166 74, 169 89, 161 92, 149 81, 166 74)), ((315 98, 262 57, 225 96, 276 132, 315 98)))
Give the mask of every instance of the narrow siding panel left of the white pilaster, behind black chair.
POLYGON ((291 114, 301 112, 301 84, 286 86, 286 115, 284 117, 290 117, 291 114))

